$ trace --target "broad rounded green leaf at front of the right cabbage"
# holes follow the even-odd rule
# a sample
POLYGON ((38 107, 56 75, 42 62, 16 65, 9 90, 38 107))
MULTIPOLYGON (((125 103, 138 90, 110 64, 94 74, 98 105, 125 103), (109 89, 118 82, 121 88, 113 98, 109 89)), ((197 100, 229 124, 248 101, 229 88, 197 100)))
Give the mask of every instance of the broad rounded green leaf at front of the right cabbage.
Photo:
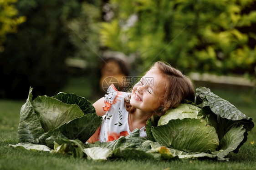
POLYGON ((188 152, 215 151, 219 145, 215 128, 204 119, 170 120, 152 129, 155 140, 169 148, 188 152))

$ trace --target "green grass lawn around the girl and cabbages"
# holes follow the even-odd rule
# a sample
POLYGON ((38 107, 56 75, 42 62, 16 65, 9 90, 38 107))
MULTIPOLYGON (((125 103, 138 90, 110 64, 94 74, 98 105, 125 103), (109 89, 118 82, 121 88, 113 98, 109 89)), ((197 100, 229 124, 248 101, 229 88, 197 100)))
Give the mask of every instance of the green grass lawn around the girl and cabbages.
MULTIPOLYGON (((85 96, 82 79, 73 79, 63 90, 85 96), (80 83, 80 84, 79 84, 80 83), (75 84, 75 86, 74 86, 75 84)), ((211 88, 216 94, 230 101, 256 124, 256 96, 251 90, 211 88)), ((92 94, 89 94, 92 96, 92 94)), ((94 99, 92 99, 94 100, 94 99)), ((17 144, 17 129, 20 107, 26 100, 0 100, 0 170, 255 170, 256 169, 256 128, 249 132, 248 140, 238 154, 230 153, 229 161, 190 159, 172 161, 152 160, 108 160, 92 161, 75 159, 70 155, 53 155, 48 152, 13 149, 9 144, 17 144), (253 144, 254 142, 254 144, 253 144)))

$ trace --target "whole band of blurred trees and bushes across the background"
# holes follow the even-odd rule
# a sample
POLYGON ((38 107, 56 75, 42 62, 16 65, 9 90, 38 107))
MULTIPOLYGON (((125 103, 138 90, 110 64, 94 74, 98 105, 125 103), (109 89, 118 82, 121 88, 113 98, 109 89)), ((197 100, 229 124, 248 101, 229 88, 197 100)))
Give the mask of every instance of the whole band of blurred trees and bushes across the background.
POLYGON ((29 86, 55 95, 81 76, 90 98, 109 50, 135 76, 165 60, 185 74, 254 80, 256 0, 0 1, 0 98, 26 98, 29 86))

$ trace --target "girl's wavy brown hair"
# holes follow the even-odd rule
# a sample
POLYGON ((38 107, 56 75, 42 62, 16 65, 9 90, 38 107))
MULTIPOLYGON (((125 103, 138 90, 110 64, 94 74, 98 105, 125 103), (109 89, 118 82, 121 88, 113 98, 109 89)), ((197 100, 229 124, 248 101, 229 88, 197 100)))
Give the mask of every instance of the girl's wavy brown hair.
MULTIPOLYGON (((164 115, 167 110, 176 108, 185 99, 194 102, 194 85, 188 76, 163 61, 155 62, 150 70, 153 68, 157 68, 166 80, 165 94, 160 98, 163 104, 157 110, 157 115, 164 115)), ((124 106, 129 113, 136 110, 130 105, 130 96, 125 98, 124 106)))

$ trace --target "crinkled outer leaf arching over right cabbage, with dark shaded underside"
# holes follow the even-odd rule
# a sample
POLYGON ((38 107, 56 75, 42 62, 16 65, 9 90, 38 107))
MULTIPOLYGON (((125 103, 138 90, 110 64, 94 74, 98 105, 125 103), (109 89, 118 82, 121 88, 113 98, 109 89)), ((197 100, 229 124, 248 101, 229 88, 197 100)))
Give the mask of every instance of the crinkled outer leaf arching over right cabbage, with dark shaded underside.
POLYGON ((232 127, 243 125, 243 128, 245 128, 244 138, 234 150, 237 153, 241 145, 246 142, 248 131, 251 131, 254 127, 252 119, 243 114, 229 101, 215 95, 206 87, 196 89, 195 104, 205 110, 202 113, 204 117, 214 117, 214 119, 211 119, 211 123, 215 125, 220 141, 232 127))

